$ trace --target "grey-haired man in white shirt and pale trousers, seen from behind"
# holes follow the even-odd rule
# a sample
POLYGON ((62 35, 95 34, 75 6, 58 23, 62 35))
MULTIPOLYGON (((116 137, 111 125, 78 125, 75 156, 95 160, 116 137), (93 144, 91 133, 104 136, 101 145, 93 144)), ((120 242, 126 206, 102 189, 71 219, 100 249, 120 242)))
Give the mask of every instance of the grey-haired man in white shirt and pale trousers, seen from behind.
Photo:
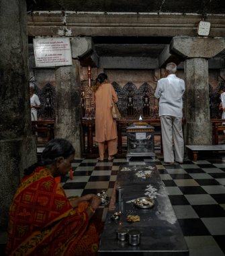
POLYGON ((185 82, 175 75, 176 71, 175 63, 167 64, 167 77, 159 79, 154 94, 159 98, 164 162, 170 164, 174 161, 182 163, 184 155, 182 97, 185 92, 185 82))

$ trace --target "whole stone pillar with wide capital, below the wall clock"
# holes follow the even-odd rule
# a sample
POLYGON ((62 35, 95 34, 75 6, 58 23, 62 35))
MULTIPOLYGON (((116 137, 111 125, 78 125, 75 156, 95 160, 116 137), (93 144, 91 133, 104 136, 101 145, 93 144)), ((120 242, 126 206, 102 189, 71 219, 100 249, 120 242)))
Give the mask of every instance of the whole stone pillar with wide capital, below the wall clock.
POLYGON ((185 59, 187 145, 212 144, 208 59, 225 48, 225 38, 173 38, 170 49, 185 59))

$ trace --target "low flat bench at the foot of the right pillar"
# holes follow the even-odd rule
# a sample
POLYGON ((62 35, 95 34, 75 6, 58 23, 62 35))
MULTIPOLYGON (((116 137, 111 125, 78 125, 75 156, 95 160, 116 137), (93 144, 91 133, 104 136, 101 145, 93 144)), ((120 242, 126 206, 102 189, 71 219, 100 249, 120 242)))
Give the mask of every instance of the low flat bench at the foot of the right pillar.
POLYGON ((197 161, 199 151, 225 151, 225 145, 188 145, 188 153, 192 153, 193 162, 197 161))

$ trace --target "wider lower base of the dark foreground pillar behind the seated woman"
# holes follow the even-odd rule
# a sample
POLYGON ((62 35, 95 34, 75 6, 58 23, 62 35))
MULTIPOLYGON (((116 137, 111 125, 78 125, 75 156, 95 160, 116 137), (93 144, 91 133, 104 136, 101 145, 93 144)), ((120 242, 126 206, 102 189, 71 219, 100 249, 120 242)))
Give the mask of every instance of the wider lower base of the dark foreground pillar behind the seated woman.
POLYGON ((7 229, 9 206, 24 176, 24 168, 37 161, 36 136, 0 141, 0 228, 7 229))

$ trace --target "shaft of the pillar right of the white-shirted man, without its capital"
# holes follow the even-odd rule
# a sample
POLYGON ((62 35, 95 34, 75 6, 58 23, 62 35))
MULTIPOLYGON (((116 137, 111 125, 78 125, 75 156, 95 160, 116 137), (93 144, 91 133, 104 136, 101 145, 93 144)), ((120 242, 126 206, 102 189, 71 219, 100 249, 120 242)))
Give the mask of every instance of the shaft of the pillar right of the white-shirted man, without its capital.
POLYGON ((208 86, 208 60, 185 60, 186 83, 186 135, 188 145, 212 144, 210 101, 208 86))

